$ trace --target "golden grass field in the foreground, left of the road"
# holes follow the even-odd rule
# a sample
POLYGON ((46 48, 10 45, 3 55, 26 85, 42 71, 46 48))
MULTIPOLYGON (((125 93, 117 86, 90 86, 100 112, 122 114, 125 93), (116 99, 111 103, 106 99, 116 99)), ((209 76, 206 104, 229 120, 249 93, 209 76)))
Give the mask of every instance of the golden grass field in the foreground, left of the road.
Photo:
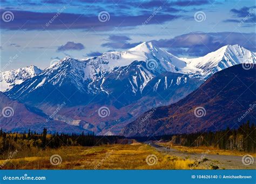
MULTIPOLYGON (((0 164, 5 160, 0 160, 0 164)), ((30 153, 18 152, 2 169, 190 169, 193 160, 181 159, 158 152, 140 143, 132 145, 103 145, 95 147, 70 146, 30 153), (33 154, 33 155, 31 155, 33 154), (50 157, 58 154, 62 163, 52 165, 50 157), (157 163, 148 165, 148 155, 156 155, 157 163)))

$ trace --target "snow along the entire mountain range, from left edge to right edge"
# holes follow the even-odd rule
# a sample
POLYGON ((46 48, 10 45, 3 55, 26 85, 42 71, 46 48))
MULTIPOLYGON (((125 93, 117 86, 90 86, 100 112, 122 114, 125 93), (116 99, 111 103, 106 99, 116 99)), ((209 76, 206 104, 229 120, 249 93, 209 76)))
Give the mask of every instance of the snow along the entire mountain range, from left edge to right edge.
MULTIPOLYGON (((130 86, 133 88, 132 93, 137 93, 137 91, 142 93, 146 83, 152 79, 146 72, 154 76, 164 72, 182 73, 188 74, 190 77, 199 77, 206 80, 222 69, 244 62, 255 63, 255 54, 239 45, 227 45, 200 58, 186 59, 177 58, 164 49, 158 48, 152 42, 144 42, 127 51, 106 52, 89 59, 79 60, 65 57, 43 70, 42 73, 35 66, 11 70, 4 73, 4 79, 1 83, 2 90, 9 90, 15 84, 20 84, 25 79, 40 73, 26 86, 18 90, 21 93, 20 95, 43 88, 45 84, 60 87, 63 83, 71 83, 81 93, 98 94, 103 92, 106 94, 108 93, 104 85, 107 79, 106 75, 119 69, 119 77, 123 75, 122 72, 131 72, 131 76, 126 74, 126 77, 132 77, 130 79, 130 86), (141 75, 137 76, 137 74, 133 74, 129 70, 130 67, 127 66, 131 65, 133 61, 144 61, 146 63, 143 69, 144 74, 141 73, 141 75), (129 71, 127 71, 127 68, 129 71), (148 75, 148 79, 145 79, 138 86, 138 83, 136 83, 138 78, 136 77, 143 78, 146 77, 145 74, 148 75), (98 81, 101 81, 100 86, 98 81)), ((137 72, 141 71, 137 70, 137 72)), ((118 80, 118 76, 116 80, 118 80)), ((156 84, 155 87, 157 86, 156 84)))

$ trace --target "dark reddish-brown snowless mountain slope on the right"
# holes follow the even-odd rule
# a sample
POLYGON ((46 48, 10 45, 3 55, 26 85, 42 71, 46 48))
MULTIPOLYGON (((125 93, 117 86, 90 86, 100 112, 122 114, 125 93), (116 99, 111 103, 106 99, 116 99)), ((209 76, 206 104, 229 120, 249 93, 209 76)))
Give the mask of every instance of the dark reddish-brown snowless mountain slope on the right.
POLYGON ((214 74, 177 103, 145 112, 128 124, 125 136, 157 136, 238 128, 255 123, 256 65, 235 65, 214 74), (147 116, 149 115, 149 116, 147 116), (147 117, 147 118, 145 118, 147 117))

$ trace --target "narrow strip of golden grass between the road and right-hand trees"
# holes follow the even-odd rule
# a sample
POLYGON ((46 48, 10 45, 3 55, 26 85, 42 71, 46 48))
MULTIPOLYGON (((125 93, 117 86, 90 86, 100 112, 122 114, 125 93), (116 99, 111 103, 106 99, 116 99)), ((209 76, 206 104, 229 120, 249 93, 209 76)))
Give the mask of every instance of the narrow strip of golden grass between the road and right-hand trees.
POLYGON ((210 152, 208 154, 220 154, 220 155, 237 155, 243 156, 245 154, 251 154, 253 157, 256 157, 256 153, 247 153, 235 150, 220 150, 217 147, 213 146, 200 146, 200 147, 187 147, 187 146, 178 146, 178 145, 171 145, 171 143, 159 143, 161 146, 169 146, 176 150, 187 152, 187 153, 204 153, 207 150, 210 152))

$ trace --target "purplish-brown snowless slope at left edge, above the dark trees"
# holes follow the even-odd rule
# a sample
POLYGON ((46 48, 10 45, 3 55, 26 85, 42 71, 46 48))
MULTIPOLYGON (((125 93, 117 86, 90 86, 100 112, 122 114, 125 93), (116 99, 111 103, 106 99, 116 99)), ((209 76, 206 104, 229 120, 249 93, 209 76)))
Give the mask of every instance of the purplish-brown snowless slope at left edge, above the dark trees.
POLYGON ((79 126, 72 126, 61 121, 48 121, 48 116, 40 116, 32 112, 24 104, 9 99, 2 92, 0 92, 0 110, 0 126, 4 131, 27 132, 30 129, 42 132, 46 128, 52 133, 89 132, 79 126))

